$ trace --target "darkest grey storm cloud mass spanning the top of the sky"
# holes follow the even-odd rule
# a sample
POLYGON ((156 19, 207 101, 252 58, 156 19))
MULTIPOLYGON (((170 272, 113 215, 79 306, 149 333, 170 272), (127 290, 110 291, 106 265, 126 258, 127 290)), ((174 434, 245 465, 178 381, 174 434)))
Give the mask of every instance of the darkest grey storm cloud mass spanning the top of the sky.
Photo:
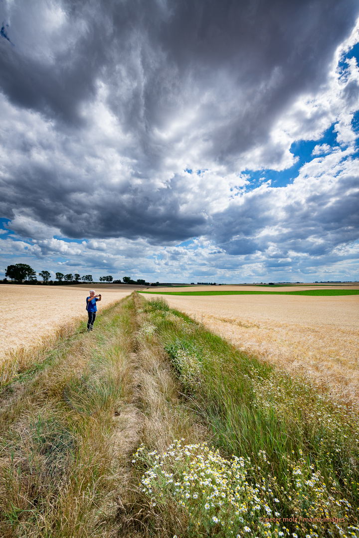
MULTIPOLYGON (((318 87, 359 11, 355 0, 57 4, 66 13, 63 39, 73 40, 71 50, 54 47, 48 62, 25 53, 20 35, 14 46, 2 40, 1 87, 13 103, 72 124, 83 119, 79 105, 103 77, 112 110, 148 141, 189 93, 214 88, 222 101, 239 96, 235 116, 214 133, 223 158, 265 136, 278 109, 300 91, 318 87), (85 29, 78 31, 80 23, 85 29)), ((10 37, 24 8, 18 1, 9 13, 10 37)), ((34 24, 29 6, 24 13, 34 24)))

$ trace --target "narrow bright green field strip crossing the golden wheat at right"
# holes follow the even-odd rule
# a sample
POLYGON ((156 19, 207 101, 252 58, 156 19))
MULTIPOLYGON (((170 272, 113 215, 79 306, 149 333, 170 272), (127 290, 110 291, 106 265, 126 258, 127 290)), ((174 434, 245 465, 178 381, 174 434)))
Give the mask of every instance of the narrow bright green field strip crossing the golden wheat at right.
POLYGON ((229 291, 211 290, 203 292, 139 292, 150 293, 151 295, 320 295, 320 296, 333 296, 333 295, 359 295, 359 289, 306 289, 295 292, 257 292, 257 291, 229 291))

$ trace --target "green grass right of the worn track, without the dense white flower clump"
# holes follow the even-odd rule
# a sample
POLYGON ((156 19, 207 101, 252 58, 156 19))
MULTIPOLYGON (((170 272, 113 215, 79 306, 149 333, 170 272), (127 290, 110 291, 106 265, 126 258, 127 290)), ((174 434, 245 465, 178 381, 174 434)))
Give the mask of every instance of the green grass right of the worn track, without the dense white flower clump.
MULTIPOLYGON (((309 379, 292 378, 254 356, 239 352, 184 314, 168 309, 162 298, 149 301, 145 312, 156 326, 159 342, 181 381, 188 407, 194 409, 209 428, 208 441, 213 443, 214 450, 219 449, 228 462, 232 455, 244 458, 247 481, 241 491, 247 491, 249 484, 249 489, 256 489, 256 493, 250 490, 248 497, 241 497, 241 502, 247 507, 253 506, 255 495, 257 505, 268 508, 268 517, 278 512, 281 518, 287 518, 284 536, 295 533, 298 537, 316 538, 327 533, 329 536, 351 533, 357 526, 359 507, 357 412, 334 402, 325 392, 318 392, 309 379), (293 514, 299 522, 293 522, 293 514), (340 525, 344 531, 333 521, 312 525, 300 518, 332 518, 333 521, 343 518, 340 525), (348 531, 348 525, 354 527, 348 531)), ((206 457, 205 449, 196 450, 202 450, 201 457, 206 457)), ((186 463, 186 458, 177 450, 171 463, 172 471, 166 458, 167 473, 174 473, 188 494, 191 493, 191 488, 186 486, 188 479, 181 482, 181 476, 191 474, 196 457, 192 463, 189 460, 186 463), (186 469, 183 475, 177 467, 180 460, 186 469)), ((144 458, 144 462, 147 469, 150 466, 150 473, 156 471, 155 461, 152 467, 151 458, 144 458)), ((210 475, 211 464, 208 465, 210 475)), ((149 487, 154 502, 156 495, 158 499, 165 495, 160 502, 175 495, 172 484, 166 486, 159 479, 152 479, 149 487)), ((196 505, 191 495, 183 501, 188 511, 196 517, 202 513, 205 521, 206 510, 196 505)), ((214 517, 221 514, 223 521, 226 519, 221 509, 210 509, 214 517)), ((273 533, 274 529, 277 533, 283 532, 278 523, 263 527, 259 512, 253 509, 241 514, 243 525, 251 529, 248 536, 278 536, 273 533)), ((236 515, 231 517, 235 519, 236 515)), ((209 530, 207 528, 207 534, 209 530)), ((231 536, 228 521, 218 533, 213 535, 231 536)), ((194 532, 193 536, 202 534, 194 532)))

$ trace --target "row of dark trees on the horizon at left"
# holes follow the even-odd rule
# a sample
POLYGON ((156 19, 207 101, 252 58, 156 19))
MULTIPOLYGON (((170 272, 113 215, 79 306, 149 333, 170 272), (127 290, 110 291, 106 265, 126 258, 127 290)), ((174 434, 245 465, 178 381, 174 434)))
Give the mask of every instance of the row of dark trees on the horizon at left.
MULTIPOLYGON (((23 281, 28 284, 41 284, 41 281, 38 281, 36 275, 39 275, 42 279, 42 284, 80 284, 80 282, 93 282, 93 277, 91 274, 85 274, 81 277, 79 273, 55 273, 55 282, 51 280, 51 273, 49 271, 40 271, 36 273, 30 265, 27 264, 15 264, 8 265, 5 271, 5 278, 3 282, 7 282, 7 279, 11 279, 11 283, 15 281, 16 284, 22 284, 23 281)), ((123 277, 123 282, 121 279, 114 280, 114 277, 107 275, 105 277, 100 277, 100 282, 107 282, 108 284, 137 284, 142 286, 158 286, 159 282, 150 284, 144 279, 132 280, 131 277, 123 277)))

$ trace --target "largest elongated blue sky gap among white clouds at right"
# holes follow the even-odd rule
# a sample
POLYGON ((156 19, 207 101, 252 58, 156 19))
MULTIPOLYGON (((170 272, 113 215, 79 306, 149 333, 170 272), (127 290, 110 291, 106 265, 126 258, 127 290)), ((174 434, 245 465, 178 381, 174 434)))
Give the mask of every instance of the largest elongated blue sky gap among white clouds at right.
MULTIPOLYGON (((242 174, 246 174, 250 178, 250 183, 247 185, 247 190, 256 189, 263 182, 271 181, 272 187, 286 187, 293 182, 295 178, 298 177, 300 168, 306 163, 310 162, 313 158, 320 157, 321 154, 317 153, 313 155, 313 150, 315 146, 321 146, 323 144, 328 144, 330 147, 339 147, 339 144, 336 141, 336 131, 334 130, 335 123, 330 125, 330 127, 323 133, 323 136, 319 140, 297 140, 293 142, 290 147, 291 153, 294 157, 297 157, 298 160, 290 168, 285 170, 276 171, 270 168, 252 171, 245 169, 242 171, 242 174)), ((323 153, 324 155, 325 153, 323 153)), ((353 157, 353 155, 351 155, 353 157)))

